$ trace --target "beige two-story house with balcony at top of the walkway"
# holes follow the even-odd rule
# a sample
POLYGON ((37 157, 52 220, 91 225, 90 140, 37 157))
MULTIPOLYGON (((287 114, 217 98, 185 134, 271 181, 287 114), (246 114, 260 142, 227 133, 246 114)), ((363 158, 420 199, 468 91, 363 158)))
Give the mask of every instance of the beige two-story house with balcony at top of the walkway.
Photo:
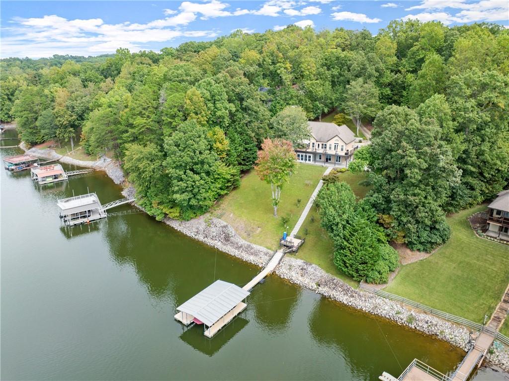
POLYGON ((295 149, 297 160, 328 166, 348 167, 354 151, 359 148, 357 138, 346 125, 308 122, 311 137, 295 149))

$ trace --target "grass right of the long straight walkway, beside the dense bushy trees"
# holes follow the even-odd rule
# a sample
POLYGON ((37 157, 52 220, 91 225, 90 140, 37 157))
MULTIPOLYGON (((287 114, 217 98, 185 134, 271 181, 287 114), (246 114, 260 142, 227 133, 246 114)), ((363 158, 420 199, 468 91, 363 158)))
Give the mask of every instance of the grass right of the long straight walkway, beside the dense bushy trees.
MULTIPOLYGON (((359 198, 363 198, 368 190, 370 190, 369 187, 359 184, 360 181, 366 178, 365 173, 352 174, 350 172, 345 172, 341 174, 341 177, 345 182, 350 184, 353 192, 359 198)), ((297 252, 297 258, 320 266, 327 271, 327 273, 340 278, 351 286, 357 287, 359 285, 359 282, 354 281, 348 275, 338 270, 334 265, 334 245, 327 232, 320 226, 320 215, 316 207, 313 207, 309 211, 298 234, 305 237, 306 241, 297 252)))

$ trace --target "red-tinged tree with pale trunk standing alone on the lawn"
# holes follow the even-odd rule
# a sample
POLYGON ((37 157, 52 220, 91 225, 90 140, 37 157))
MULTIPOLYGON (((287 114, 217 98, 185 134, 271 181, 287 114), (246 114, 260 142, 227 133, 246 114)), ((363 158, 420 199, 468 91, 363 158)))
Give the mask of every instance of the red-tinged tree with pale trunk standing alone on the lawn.
POLYGON ((258 151, 256 173, 262 181, 270 184, 274 217, 277 217, 277 206, 282 186, 288 182, 295 171, 297 162, 292 143, 281 139, 265 139, 262 149, 258 151))

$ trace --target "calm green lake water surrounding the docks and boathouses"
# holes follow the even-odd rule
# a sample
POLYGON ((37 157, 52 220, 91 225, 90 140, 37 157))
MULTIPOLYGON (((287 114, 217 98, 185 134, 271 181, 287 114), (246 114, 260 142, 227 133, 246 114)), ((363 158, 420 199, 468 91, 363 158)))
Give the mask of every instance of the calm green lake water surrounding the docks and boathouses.
MULTIPOLYGON (((129 205, 63 227, 58 198, 88 190, 103 204, 122 198, 103 172, 41 187, 30 171, 2 169, 1 180, 2 379, 376 380, 414 358, 449 373, 464 355, 274 275, 207 339, 175 321, 175 308, 216 279, 244 285, 259 268, 137 210, 112 213, 129 205)), ((484 368, 475 379, 505 377, 484 368)))

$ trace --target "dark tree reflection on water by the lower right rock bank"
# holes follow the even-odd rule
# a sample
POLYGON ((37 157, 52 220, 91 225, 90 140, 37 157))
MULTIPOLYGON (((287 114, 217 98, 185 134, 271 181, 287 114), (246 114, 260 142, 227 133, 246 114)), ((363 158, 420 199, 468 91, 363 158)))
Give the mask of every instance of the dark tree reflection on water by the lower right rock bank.
POLYGON ((337 305, 320 298, 309 315, 310 333, 321 346, 335 348, 359 378, 383 371, 399 376, 414 358, 447 374, 455 368, 444 368, 441 364, 458 364, 465 355, 448 343, 430 336, 413 340, 415 333, 409 329, 385 319, 368 318, 350 308, 331 308, 334 304, 337 305), (370 359, 369 364, 366 358, 370 359))

